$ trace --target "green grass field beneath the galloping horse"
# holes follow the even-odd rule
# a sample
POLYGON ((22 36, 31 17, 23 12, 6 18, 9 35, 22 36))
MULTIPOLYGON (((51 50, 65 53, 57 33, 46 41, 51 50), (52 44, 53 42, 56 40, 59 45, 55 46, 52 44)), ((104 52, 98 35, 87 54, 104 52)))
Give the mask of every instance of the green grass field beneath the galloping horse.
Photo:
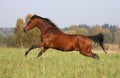
POLYGON ((100 60, 78 52, 40 49, 24 57, 26 49, 0 48, 0 78, 120 78, 120 54, 97 53, 100 60))

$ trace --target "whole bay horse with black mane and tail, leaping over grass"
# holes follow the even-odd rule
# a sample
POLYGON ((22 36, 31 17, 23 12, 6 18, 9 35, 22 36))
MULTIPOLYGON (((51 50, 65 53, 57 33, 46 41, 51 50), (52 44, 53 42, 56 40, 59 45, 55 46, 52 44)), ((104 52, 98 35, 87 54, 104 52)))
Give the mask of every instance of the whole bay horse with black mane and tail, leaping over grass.
POLYGON ((25 57, 34 48, 42 48, 37 57, 41 56, 49 48, 53 48, 61 51, 75 50, 84 56, 99 59, 99 56, 92 52, 90 40, 98 43, 106 53, 103 46, 104 35, 102 33, 93 36, 65 34, 50 19, 38 15, 33 15, 29 19, 23 31, 26 33, 35 27, 41 31, 41 42, 38 45, 32 45, 25 52, 25 57))

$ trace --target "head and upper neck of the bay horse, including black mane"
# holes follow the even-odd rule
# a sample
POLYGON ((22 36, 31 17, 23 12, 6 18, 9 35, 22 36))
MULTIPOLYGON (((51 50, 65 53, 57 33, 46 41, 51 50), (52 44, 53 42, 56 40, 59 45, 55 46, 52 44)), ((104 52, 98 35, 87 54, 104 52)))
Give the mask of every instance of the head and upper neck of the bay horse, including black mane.
POLYGON ((27 31, 35 27, 38 27, 41 30, 41 32, 47 30, 48 28, 58 29, 57 26, 50 19, 33 15, 25 24, 23 31, 26 33, 27 31))

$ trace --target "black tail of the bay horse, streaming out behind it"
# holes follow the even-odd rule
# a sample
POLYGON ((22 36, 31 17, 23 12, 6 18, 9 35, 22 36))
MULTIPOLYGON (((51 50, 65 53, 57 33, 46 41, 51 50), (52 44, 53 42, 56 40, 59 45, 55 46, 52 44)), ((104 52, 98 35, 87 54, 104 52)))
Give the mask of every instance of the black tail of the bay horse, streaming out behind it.
POLYGON ((88 36, 89 39, 93 40, 95 43, 99 43, 101 48, 103 49, 103 51, 105 53, 107 53, 105 51, 105 48, 103 46, 103 42, 104 42, 104 35, 102 33, 98 34, 98 35, 93 35, 93 36, 88 36))

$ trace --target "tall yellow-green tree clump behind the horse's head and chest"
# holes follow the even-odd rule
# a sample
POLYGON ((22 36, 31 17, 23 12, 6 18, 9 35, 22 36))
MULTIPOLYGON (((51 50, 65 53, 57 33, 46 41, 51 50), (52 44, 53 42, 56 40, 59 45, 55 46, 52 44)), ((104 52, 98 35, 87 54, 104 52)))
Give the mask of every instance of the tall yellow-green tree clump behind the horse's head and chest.
MULTIPOLYGON (((29 21, 32 14, 28 14, 25 17, 25 23, 29 21)), ((32 44, 38 44, 40 42, 40 31, 38 28, 34 28, 27 33, 23 32, 24 21, 22 18, 17 19, 16 27, 14 28, 14 46, 16 47, 28 47, 32 44)))

